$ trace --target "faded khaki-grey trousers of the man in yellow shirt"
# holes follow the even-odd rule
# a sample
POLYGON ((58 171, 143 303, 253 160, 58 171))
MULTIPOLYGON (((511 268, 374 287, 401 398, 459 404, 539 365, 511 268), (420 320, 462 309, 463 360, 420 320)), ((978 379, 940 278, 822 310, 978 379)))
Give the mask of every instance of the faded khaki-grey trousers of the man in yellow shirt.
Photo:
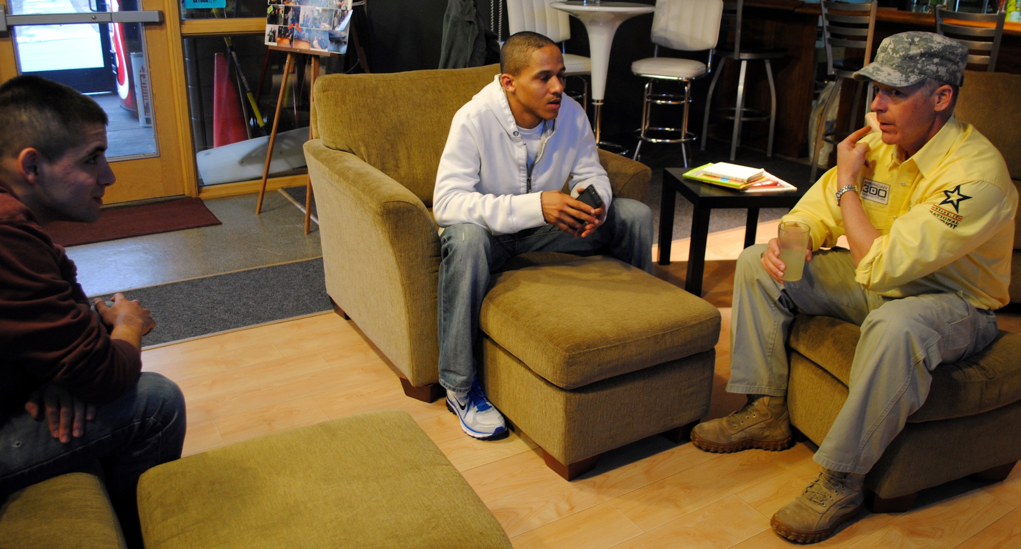
POLYGON ((995 314, 961 293, 894 299, 866 290, 855 282, 850 252, 840 248, 814 253, 800 281, 780 285, 760 262, 765 250, 751 246, 737 259, 727 391, 786 395, 785 345, 796 311, 860 326, 847 400, 815 455, 826 468, 872 469, 925 403, 932 370, 981 351, 999 333, 995 314))

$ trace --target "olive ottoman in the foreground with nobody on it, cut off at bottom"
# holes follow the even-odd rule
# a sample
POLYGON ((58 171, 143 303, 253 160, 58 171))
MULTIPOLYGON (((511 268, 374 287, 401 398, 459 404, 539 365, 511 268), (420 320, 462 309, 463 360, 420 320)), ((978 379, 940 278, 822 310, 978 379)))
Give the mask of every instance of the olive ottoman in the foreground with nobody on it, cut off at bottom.
POLYGON ((153 467, 147 549, 509 548, 500 525, 406 412, 368 412, 153 467))

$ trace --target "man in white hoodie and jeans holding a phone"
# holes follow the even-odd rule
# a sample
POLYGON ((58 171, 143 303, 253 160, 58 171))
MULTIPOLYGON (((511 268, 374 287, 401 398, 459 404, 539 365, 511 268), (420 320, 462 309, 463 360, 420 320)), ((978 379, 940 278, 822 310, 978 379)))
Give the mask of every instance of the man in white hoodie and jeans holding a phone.
MULTIPOLYGON (((636 200, 614 200, 588 118, 563 95, 564 70, 548 38, 529 32, 508 38, 500 74, 454 114, 436 174, 433 213, 444 228, 440 385, 461 429, 477 439, 506 435, 503 416, 476 379, 479 311, 491 271, 533 251, 610 252, 652 271, 652 214, 636 200), (561 191, 569 181, 570 195, 561 191), (589 186, 601 206, 577 200, 589 186)), ((589 306, 591 299, 565 296, 563 305, 589 306)), ((584 317, 579 311, 579 321, 584 317)))

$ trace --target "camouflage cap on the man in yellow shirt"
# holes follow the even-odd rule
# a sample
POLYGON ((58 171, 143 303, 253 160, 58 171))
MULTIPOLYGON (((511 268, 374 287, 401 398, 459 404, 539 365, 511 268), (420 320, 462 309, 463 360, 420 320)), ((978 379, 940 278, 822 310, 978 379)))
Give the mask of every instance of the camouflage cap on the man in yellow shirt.
POLYGON ((964 44, 935 33, 913 31, 883 40, 875 60, 855 72, 855 80, 904 88, 931 78, 961 86, 966 64, 968 48, 964 44))

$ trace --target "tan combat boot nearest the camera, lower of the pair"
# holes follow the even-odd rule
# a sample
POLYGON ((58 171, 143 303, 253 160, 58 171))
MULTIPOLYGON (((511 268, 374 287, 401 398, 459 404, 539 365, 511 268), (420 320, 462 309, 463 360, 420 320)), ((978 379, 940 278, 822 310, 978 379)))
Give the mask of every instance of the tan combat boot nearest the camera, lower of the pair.
POLYGON ((862 510, 864 479, 864 475, 823 468, 800 496, 773 515, 773 531, 798 543, 829 538, 862 510))

